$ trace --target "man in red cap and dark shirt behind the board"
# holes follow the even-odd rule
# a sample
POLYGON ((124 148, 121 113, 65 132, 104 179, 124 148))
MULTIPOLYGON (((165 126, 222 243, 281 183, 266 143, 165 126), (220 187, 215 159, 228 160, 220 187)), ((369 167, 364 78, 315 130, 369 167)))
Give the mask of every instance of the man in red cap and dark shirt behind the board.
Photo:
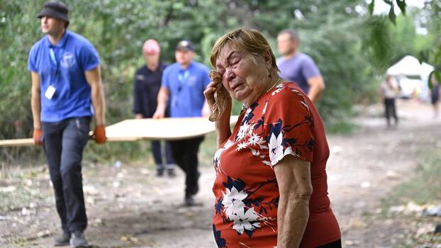
MULTIPOLYGON (((156 40, 150 39, 145 41, 143 55, 145 65, 136 71, 133 91, 133 112, 137 119, 151 118, 153 113, 155 113, 157 94, 161 87, 162 72, 166 67, 164 63, 160 62, 160 45, 156 40)), ((165 142, 165 164, 162 163, 161 142, 155 140, 151 144, 152 154, 157 166, 157 176, 162 176, 165 169, 167 169, 169 176, 175 176, 169 142, 165 142)))

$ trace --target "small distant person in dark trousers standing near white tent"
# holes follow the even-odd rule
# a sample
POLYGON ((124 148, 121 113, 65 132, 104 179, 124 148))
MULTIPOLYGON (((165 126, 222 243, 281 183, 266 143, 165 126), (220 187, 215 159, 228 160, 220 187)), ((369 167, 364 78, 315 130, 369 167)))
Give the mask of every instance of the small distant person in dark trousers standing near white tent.
POLYGON ((395 120, 395 125, 398 125, 398 116, 396 115, 395 99, 398 96, 400 89, 391 75, 386 75, 383 83, 380 85, 380 96, 384 103, 384 116, 388 128, 391 126, 391 116, 395 120))

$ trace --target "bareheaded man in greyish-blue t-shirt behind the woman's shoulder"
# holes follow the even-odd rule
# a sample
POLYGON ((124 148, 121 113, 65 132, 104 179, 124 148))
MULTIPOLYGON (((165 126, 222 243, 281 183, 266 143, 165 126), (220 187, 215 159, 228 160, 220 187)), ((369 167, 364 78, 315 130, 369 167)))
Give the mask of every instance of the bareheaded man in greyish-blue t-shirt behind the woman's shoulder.
POLYGON ((277 35, 277 49, 282 57, 277 59, 280 77, 294 81, 317 103, 325 90, 325 82, 314 60, 298 52, 299 39, 292 29, 281 30, 277 35))

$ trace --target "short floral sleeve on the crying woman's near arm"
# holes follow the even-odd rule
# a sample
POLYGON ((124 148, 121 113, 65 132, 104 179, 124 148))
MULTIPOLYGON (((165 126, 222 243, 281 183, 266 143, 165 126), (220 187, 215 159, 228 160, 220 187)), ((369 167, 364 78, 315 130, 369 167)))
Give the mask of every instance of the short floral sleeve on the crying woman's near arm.
POLYGON ((301 91, 293 85, 279 86, 264 110, 264 136, 271 166, 288 154, 313 161, 313 115, 301 91))

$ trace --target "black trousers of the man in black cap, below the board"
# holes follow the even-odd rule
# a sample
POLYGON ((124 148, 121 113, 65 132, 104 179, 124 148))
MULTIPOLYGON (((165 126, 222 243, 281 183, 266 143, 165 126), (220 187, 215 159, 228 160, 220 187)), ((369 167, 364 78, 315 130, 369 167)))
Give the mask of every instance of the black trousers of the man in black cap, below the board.
POLYGON ((199 191, 198 179, 198 151, 203 137, 195 137, 187 140, 172 140, 172 154, 174 162, 185 172, 185 195, 191 196, 199 191))

